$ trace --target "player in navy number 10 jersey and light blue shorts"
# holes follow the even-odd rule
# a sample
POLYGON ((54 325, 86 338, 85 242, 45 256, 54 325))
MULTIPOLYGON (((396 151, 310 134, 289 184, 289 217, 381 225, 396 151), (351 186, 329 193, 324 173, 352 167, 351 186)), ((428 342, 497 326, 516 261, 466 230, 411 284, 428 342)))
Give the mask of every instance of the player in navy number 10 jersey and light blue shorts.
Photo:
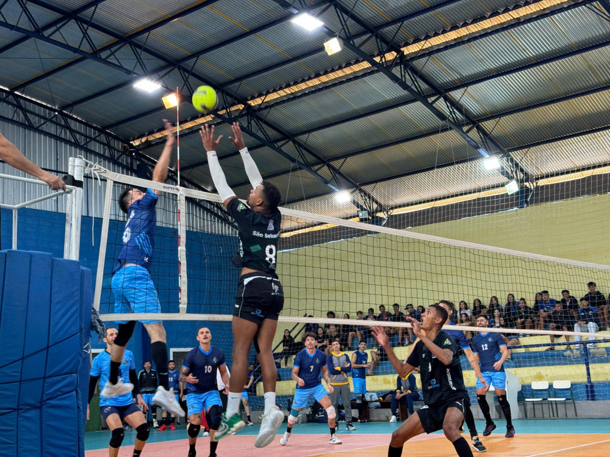
MULTIPOLYGON (((206 421, 210 427, 210 457, 216 457, 216 441, 214 434, 222 422, 223 403, 220 401, 217 370, 224 383, 224 392, 229 391, 229 373, 224 364, 224 353, 212 346, 212 333, 207 327, 197 330, 199 345, 190 350, 180 370, 179 381, 184 383, 187 391, 188 409, 188 457, 195 457, 195 443, 199 430, 201 430, 201 415, 206 414, 206 421)), ((224 425, 224 424, 222 424, 224 425)))

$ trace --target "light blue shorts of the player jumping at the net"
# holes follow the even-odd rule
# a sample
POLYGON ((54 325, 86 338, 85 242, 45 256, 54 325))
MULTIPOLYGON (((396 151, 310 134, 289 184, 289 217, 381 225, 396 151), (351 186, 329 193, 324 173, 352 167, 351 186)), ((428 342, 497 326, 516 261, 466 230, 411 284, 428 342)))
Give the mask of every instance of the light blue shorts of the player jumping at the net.
MULTIPOLYGON (((150 273, 143 266, 130 265, 118 270, 112 277, 112 293, 115 297, 114 312, 117 314, 161 312, 157 289, 150 273)), ((126 324, 127 321, 117 322, 126 324)), ((162 321, 140 322, 154 324, 162 321)))

